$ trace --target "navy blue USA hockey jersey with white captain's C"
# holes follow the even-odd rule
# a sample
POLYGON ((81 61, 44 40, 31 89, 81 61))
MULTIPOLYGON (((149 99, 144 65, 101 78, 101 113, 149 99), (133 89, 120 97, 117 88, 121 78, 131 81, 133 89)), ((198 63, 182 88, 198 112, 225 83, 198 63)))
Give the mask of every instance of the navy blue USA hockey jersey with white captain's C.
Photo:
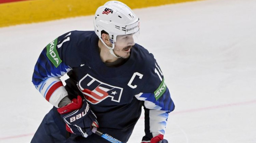
POLYGON ((113 136, 123 142, 129 139, 142 106, 143 140, 164 134, 174 104, 154 56, 135 44, 124 64, 109 67, 100 59, 98 42, 94 31, 71 31, 49 43, 33 73, 36 89, 55 107, 63 97, 72 99, 81 94, 100 128, 116 130, 118 135, 113 136), (59 78, 67 72, 70 79, 65 88, 59 78))

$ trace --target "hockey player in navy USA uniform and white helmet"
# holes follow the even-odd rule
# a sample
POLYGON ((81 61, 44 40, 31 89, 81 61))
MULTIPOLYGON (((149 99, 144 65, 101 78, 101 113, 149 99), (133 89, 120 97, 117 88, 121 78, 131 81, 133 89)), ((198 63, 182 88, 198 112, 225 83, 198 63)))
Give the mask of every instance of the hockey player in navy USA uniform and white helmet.
POLYGON ((141 142, 167 143, 164 131, 174 104, 154 56, 136 44, 139 18, 127 5, 109 1, 97 9, 94 28, 63 34, 40 54, 32 82, 54 107, 31 143, 108 143, 92 126, 126 143, 142 106, 141 142))

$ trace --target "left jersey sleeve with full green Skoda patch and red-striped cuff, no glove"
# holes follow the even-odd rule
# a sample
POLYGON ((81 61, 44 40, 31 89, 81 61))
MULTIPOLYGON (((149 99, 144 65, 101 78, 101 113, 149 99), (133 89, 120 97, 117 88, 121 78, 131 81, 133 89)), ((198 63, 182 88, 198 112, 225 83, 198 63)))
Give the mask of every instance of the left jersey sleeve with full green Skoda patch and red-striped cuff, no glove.
POLYGON ((41 52, 33 72, 32 82, 43 97, 58 108, 68 93, 60 77, 71 70, 65 62, 65 51, 71 46, 71 33, 63 34, 50 42, 41 52))

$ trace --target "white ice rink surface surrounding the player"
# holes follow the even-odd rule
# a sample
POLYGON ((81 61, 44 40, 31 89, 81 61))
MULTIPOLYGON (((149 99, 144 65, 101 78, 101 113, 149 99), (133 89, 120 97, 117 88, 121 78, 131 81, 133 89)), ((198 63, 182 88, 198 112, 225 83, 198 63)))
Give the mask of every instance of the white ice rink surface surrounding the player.
MULTIPOLYGON (((256 1, 207 0, 134 10, 139 44, 164 73, 176 109, 170 143, 256 142, 256 1)), ((0 28, 1 143, 27 143, 52 108, 31 83, 42 49, 92 16, 0 28)), ((129 143, 143 136, 141 116, 129 143)))

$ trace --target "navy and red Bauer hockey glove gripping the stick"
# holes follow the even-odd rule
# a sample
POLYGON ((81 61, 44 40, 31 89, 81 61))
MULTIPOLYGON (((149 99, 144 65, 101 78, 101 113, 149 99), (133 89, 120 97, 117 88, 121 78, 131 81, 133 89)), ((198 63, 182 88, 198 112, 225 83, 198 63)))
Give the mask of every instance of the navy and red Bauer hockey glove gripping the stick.
POLYGON ((97 117, 81 96, 77 96, 77 99, 73 99, 72 103, 59 108, 58 112, 66 123, 66 130, 82 135, 84 138, 92 134, 91 126, 99 127, 97 117))

